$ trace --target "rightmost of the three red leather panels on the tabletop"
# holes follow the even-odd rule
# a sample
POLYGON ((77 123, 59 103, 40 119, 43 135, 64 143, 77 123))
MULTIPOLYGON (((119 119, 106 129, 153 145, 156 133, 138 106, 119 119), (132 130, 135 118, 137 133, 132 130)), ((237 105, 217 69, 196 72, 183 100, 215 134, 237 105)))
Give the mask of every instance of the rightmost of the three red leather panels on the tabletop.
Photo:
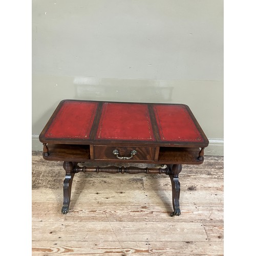
POLYGON ((184 105, 154 105, 154 112, 162 141, 202 141, 184 105))

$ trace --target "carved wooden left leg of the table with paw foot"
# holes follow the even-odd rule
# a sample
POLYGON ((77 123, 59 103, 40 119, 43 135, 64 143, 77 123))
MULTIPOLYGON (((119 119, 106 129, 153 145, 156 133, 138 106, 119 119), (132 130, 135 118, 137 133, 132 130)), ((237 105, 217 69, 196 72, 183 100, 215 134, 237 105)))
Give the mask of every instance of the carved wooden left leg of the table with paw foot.
POLYGON ((71 187, 75 175, 74 167, 75 165, 72 162, 63 162, 63 168, 66 170, 66 176, 63 182, 63 206, 61 209, 62 214, 67 214, 69 211, 71 187))

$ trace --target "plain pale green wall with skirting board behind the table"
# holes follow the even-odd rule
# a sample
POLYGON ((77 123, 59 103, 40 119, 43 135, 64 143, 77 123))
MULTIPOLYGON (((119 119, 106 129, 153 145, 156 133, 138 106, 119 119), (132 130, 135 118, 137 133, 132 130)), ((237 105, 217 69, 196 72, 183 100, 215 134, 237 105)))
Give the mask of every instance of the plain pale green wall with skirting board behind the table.
POLYGON ((223 155, 223 0, 33 0, 32 150, 62 99, 187 104, 223 155))

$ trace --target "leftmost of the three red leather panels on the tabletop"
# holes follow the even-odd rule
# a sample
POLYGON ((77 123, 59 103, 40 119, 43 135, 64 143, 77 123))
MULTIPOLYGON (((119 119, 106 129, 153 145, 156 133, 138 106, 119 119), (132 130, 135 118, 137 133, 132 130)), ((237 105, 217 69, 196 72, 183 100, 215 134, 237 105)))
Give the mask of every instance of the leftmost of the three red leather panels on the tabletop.
POLYGON ((97 105, 97 102, 64 102, 45 137, 89 139, 97 105))

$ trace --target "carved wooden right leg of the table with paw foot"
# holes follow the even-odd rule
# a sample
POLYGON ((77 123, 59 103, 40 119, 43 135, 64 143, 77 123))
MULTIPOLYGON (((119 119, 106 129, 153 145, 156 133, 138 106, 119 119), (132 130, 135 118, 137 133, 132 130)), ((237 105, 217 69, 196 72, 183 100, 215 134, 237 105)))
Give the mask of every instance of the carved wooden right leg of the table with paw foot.
POLYGON ((170 173, 170 181, 172 182, 172 191, 173 191, 173 208, 174 212, 170 216, 180 216, 180 182, 179 182, 179 173, 182 170, 181 164, 167 165, 170 173))

